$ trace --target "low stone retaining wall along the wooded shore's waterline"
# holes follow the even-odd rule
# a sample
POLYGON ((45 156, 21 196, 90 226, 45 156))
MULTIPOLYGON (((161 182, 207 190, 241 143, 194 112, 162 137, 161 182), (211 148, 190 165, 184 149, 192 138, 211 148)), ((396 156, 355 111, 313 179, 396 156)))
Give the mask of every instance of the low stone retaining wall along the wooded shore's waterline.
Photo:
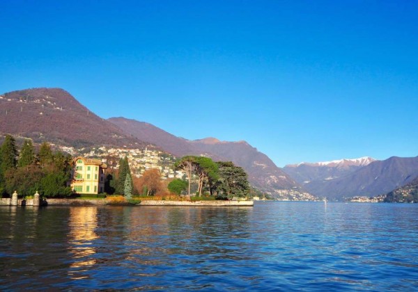
MULTIPOLYGON (((104 206, 109 204, 103 200, 81 199, 47 199, 48 206, 104 206)), ((0 206, 12 206, 12 198, 0 198, 0 206)), ((15 205, 16 206, 16 205, 15 205)), ((17 200, 17 206, 33 206, 33 199, 17 200)), ((137 206, 254 206, 253 201, 163 201, 144 200, 137 206)))

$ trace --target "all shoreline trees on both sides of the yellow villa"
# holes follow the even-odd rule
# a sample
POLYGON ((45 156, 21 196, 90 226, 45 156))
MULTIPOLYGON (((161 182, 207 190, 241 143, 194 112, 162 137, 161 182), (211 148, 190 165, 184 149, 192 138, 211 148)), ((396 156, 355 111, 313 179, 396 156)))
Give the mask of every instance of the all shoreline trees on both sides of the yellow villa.
MULTIPOLYGON (((0 146, 0 196, 10 197, 38 192, 45 197, 66 197, 73 194, 72 156, 53 152, 51 145, 42 143, 38 150, 26 139, 20 151, 15 138, 6 135, 0 146)), ((211 195, 226 200, 246 197, 250 193, 247 173, 232 162, 212 161, 203 156, 184 156, 174 165, 183 170, 183 179, 163 181, 159 170, 146 170, 141 177, 132 177, 128 159, 118 161, 118 169, 109 170, 104 184, 107 194, 124 195, 211 195)))

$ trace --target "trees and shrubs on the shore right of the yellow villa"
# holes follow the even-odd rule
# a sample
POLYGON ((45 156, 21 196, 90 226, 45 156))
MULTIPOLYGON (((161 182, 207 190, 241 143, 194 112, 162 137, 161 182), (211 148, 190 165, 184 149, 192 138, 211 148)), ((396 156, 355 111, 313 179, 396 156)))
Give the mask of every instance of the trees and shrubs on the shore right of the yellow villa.
POLYGON ((185 177, 164 181, 157 169, 146 170, 141 177, 133 177, 127 158, 120 159, 119 168, 107 175, 105 192, 108 194, 134 196, 152 195, 210 195, 219 200, 246 197, 251 189, 247 173, 232 162, 212 161, 203 156, 184 156, 174 168, 182 170, 185 177))

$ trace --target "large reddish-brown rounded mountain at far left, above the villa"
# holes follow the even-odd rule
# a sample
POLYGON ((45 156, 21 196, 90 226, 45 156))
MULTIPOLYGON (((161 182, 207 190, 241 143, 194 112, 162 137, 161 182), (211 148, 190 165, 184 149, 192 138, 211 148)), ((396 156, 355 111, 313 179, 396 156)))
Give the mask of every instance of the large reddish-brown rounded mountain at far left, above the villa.
POLYGON ((123 133, 60 88, 33 88, 0 95, 0 134, 77 147, 145 143, 123 133))

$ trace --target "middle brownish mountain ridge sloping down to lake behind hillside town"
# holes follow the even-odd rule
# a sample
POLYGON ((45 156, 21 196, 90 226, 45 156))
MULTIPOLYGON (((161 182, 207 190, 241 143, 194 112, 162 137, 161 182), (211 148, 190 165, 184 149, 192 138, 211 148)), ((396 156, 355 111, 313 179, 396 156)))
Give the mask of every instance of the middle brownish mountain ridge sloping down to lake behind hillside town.
POLYGON ((301 190, 300 185, 278 168, 268 156, 245 141, 226 142, 216 138, 186 140, 146 122, 124 117, 112 117, 109 121, 128 135, 157 145, 176 156, 205 155, 217 161, 232 161, 247 171, 251 184, 260 190, 273 194, 277 190, 301 190))

